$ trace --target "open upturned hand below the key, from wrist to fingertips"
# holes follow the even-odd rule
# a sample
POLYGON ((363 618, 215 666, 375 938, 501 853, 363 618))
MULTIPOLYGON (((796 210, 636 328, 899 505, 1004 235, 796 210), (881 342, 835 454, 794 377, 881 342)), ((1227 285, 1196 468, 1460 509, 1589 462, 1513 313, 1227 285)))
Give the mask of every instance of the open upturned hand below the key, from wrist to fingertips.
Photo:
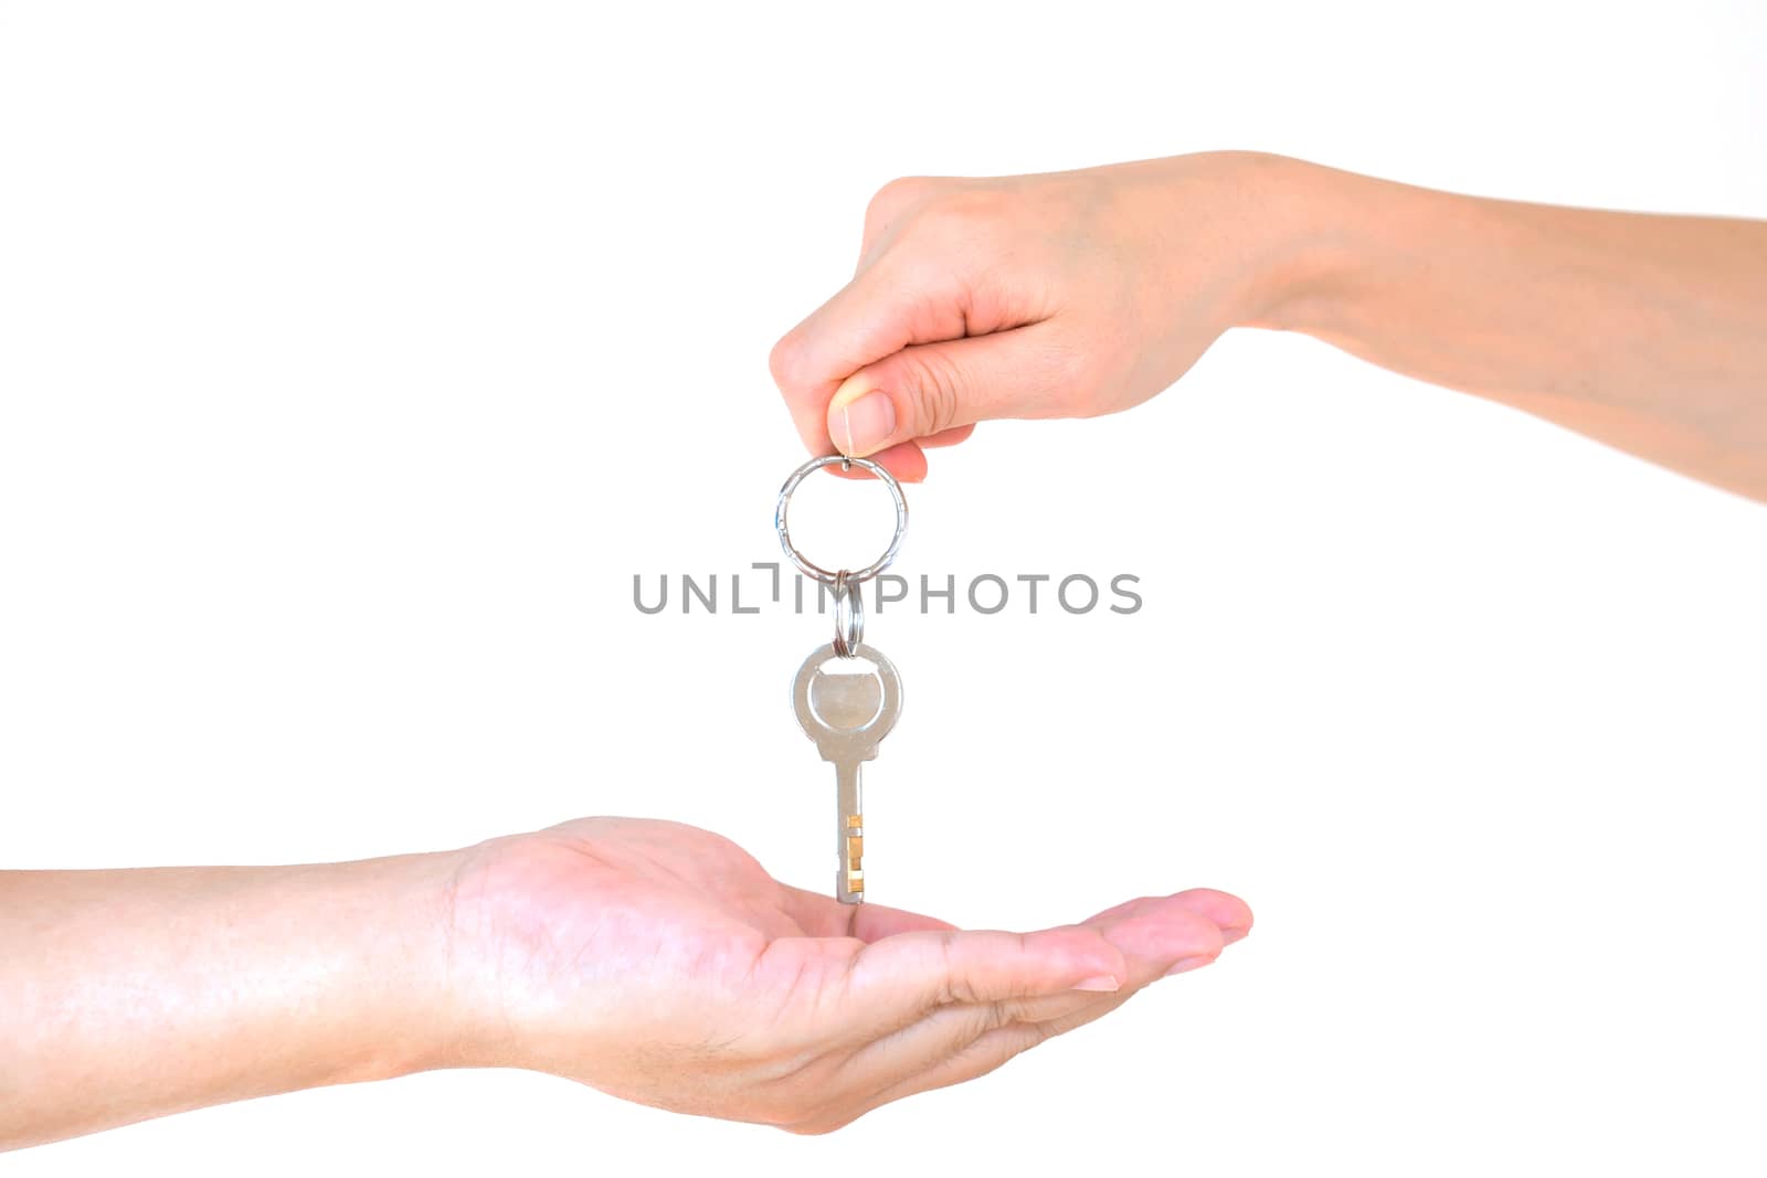
POLYGON ((997 1067, 1249 924, 1239 901, 1187 892, 1027 936, 958 933, 783 885, 705 830, 624 818, 486 844, 468 892, 519 1061, 799 1129, 997 1067))

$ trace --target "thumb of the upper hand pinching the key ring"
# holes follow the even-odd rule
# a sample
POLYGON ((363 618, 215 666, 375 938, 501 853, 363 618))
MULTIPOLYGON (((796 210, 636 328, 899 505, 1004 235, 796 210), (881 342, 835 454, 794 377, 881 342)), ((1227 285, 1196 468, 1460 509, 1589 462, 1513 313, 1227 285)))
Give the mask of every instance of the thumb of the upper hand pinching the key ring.
POLYGON ((1074 364, 1048 323, 914 344, 848 376, 829 401, 829 440, 868 457, 1000 417, 1057 417, 1074 364))

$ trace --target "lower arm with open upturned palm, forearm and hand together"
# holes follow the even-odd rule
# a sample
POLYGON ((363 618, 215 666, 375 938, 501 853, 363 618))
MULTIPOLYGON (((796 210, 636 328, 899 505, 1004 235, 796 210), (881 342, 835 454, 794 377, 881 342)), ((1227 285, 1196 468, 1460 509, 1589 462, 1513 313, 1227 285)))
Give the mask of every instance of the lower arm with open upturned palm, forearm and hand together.
POLYGON ((1249 927, 1193 890, 959 933, 626 818, 355 864, 0 872, 0 1146, 442 1067, 827 1132, 1249 927))

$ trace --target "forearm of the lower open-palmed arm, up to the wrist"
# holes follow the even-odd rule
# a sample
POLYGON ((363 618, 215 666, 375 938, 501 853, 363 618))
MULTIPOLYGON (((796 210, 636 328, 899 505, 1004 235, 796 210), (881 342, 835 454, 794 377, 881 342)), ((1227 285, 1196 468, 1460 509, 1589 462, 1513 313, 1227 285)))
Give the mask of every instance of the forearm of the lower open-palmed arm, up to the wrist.
POLYGON ((451 871, 0 872, 0 1148, 445 1061, 451 871))

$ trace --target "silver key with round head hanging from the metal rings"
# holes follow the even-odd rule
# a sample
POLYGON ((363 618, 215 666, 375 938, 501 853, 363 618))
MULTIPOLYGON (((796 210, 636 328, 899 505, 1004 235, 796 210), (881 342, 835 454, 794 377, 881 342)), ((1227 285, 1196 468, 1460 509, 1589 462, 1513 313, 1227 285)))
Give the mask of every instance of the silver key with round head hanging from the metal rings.
POLYGON ((866 823, 859 768, 878 754, 878 742, 901 715, 901 678, 891 661, 862 643, 853 655, 871 664, 869 675, 825 671, 822 664, 836 657, 830 643, 811 652, 797 669, 797 683, 792 687, 797 722, 804 726, 804 735, 816 742, 822 759, 834 763, 839 793, 834 825, 839 869, 834 874, 834 895, 843 904, 861 904, 866 899, 866 823))

